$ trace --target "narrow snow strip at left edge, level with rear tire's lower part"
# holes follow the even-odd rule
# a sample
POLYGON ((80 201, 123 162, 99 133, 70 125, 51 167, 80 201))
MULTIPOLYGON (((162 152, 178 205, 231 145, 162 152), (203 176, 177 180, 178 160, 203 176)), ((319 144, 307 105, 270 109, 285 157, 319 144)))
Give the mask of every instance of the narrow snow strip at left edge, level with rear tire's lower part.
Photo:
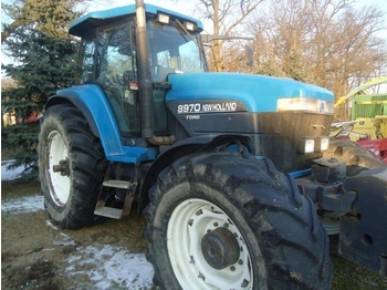
POLYGON ((43 210, 43 196, 25 196, 21 198, 1 200, 1 211, 11 213, 14 215, 18 214, 28 214, 43 210))

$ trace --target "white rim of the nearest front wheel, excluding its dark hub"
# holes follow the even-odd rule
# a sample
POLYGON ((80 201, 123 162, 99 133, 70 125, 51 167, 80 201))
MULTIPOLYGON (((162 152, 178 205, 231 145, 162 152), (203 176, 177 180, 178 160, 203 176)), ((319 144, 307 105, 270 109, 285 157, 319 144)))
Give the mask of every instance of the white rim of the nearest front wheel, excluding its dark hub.
POLYGON ((172 211, 167 230, 169 259, 182 289, 252 289, 251 258, 236 222, 219 207, 203 199, 187 199, 172 211), (201 251, 201 239, 227 225, 239 245, 238 262, 217 270, 201 251))

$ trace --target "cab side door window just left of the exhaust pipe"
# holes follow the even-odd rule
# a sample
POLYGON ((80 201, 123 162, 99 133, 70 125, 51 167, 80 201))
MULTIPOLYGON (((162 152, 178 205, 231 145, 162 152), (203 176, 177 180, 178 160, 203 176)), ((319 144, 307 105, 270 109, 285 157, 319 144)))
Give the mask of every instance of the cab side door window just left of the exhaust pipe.
POLYGON ((123 136, 139 133, 137 93, 130 82, 137 82, 133 22, 101 28, 96 46, 96 80, 105 92, 123 136))

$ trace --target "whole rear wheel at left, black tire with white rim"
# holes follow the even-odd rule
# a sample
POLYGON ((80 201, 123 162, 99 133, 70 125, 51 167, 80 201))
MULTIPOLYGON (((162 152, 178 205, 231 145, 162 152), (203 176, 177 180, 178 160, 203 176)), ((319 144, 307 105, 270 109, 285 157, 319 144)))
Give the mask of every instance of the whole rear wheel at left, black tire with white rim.
POLYGON ((106 166, 101 142, 79 110, 49 107, 39 136, 39 177, 54 224, 71 229, 93 224, 106 166))

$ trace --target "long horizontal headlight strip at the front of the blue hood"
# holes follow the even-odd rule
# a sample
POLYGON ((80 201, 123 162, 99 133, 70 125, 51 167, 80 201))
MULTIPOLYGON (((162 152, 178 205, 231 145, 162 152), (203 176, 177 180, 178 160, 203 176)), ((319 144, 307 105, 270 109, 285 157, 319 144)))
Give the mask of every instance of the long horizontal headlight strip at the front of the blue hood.
POLYGON ((304 96, 283 97, 276 101, 276 111, 311 111, 333 114, 333 102, 304 96))

